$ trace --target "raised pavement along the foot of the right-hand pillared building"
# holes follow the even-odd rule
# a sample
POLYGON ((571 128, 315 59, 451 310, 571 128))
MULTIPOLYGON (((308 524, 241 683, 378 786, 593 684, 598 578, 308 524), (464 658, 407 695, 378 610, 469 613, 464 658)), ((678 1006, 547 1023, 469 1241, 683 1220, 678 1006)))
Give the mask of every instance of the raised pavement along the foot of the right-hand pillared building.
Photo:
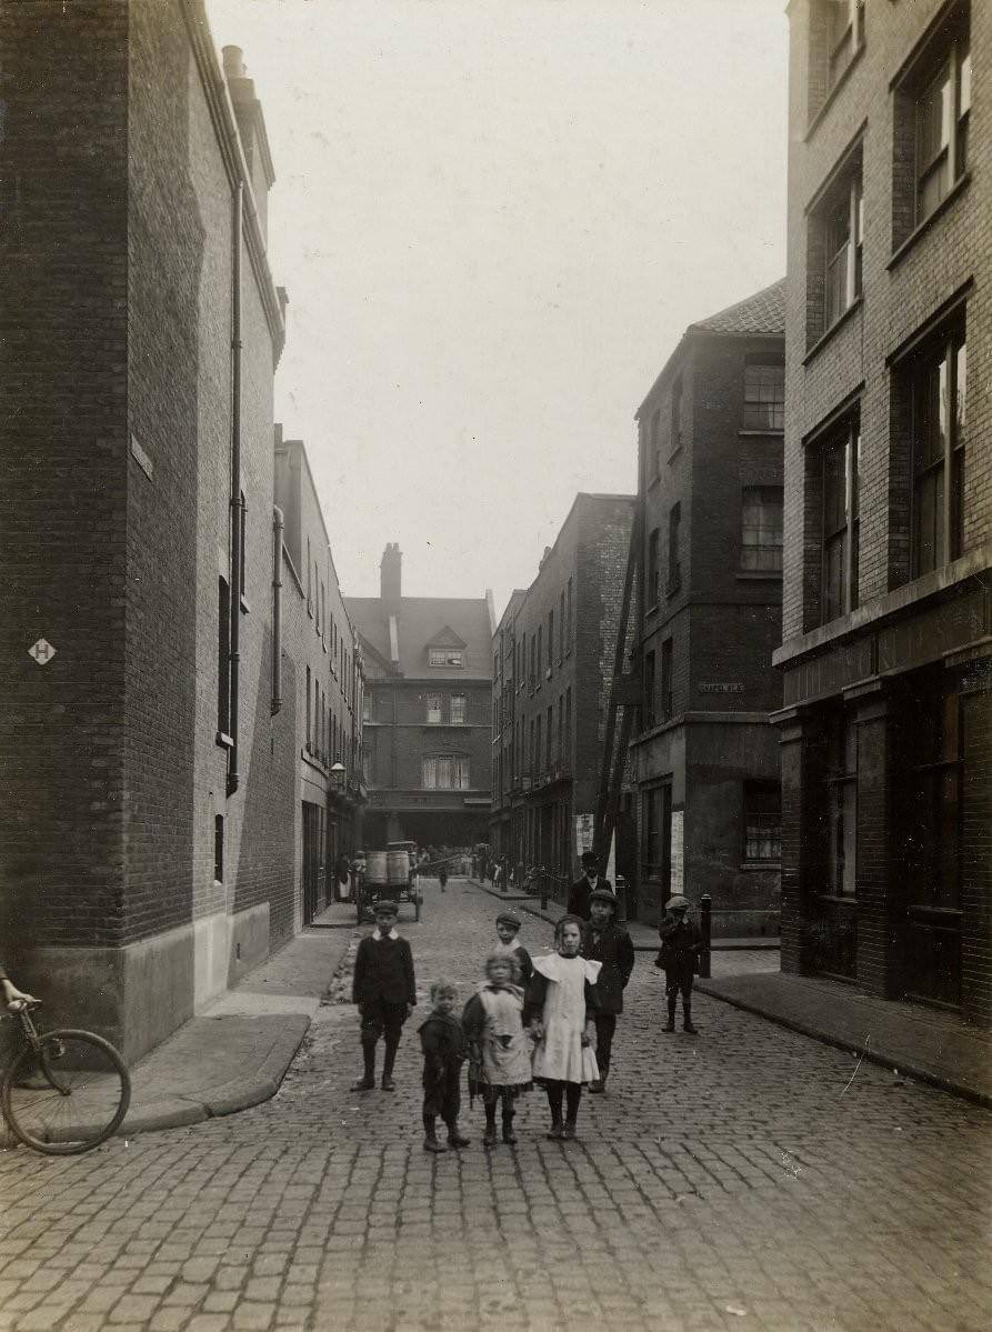
POLYGON ((696 980, 703 994, 992 1107, 992 1032, 953 1014, 780 971, 696 980))

